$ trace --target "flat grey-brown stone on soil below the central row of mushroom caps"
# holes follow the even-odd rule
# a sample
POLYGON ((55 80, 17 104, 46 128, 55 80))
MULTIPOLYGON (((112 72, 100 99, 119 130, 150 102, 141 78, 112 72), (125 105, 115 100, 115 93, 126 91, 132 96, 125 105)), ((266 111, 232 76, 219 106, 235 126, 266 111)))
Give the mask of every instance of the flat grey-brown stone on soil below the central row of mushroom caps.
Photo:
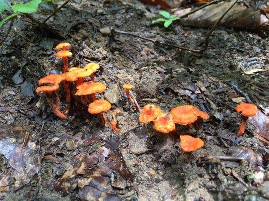
POLYGON ((129 149, 135 155, 140 155, 147 152, 146 139, 139 138, 134 133, 129 135, 129 149))

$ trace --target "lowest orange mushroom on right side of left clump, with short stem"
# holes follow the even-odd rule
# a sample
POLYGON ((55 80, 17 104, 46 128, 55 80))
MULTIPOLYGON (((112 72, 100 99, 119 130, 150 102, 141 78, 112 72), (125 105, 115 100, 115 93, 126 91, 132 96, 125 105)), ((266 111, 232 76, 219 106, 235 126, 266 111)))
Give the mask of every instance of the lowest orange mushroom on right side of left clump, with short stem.
POLYGON ((109 111, 111 109, 111 104, 107 100, 94 100, 89 107, 88 112, 90 114, 98 114, 101 117, 101 125, 105 125, 106 118, 103 112, 109 111))

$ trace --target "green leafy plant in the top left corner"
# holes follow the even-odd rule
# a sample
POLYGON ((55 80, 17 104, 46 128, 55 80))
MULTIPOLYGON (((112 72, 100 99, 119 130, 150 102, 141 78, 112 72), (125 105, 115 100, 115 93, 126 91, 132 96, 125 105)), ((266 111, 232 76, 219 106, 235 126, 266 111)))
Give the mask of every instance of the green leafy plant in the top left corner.
POLYGON ((11 6, 11 4, 8 2, 8 0, 0 0, 0 15, 4 11, 8 11, 11 15, 5 17, 0 22, 0 28, 10 19, 21 15, 21 14, 30 14, 37 12, 38 5, 41 3, 42 0, 32 0, 30 2, 27 2, 25 4, 14 4, 11 6))

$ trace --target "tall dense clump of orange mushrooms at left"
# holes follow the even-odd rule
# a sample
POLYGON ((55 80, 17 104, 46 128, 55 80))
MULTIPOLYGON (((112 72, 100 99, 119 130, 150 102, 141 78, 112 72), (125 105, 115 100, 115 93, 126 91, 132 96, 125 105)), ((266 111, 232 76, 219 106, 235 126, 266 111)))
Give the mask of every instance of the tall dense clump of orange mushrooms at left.
POLYGON ((50 74, 38 81, 39 87, 37 93, 44 93, 47 102, 58 117, 67 119, 71 102, 70 82, 75 82, 76 93, 80 96, 82 104, 89 104, 88 112, 90 114, 98 114, 102 119, 102 125, 105 123, 103 112, 111 109, 111 104, 107 100, 96 99, 95 93, 103 92, 106 86, 100 82, 94 82, 94 72, 100 68, 97 63, 88 63, 83 68, 72 67, 68 70, 67 58, 72 56, 72 53, 67 50, 71 45, 69 43, 60 43, 56 46, 56 57, 63 58, 64 73, 50 74), (90 81, 84 81, 84 78, 90 77, 90 81), (60 111, 60 98, 57 93, 59 84, 63 81, 66 90, 66 102, 69 104, 65 114, 60 111))

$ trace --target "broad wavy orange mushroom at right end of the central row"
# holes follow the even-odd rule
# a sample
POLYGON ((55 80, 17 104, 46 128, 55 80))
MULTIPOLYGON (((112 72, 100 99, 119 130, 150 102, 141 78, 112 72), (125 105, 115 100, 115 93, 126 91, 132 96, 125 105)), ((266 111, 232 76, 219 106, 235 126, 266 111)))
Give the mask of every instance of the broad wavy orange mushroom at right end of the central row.
POLYGON ((186 126, 188 124, 195 122, 198 119, 198 117, 202 119, 208 119, 209 115, 207 113, 198 110, 193 106, 184 105, 173 108, 170 111, 170 117, 174 123, 186 126))

